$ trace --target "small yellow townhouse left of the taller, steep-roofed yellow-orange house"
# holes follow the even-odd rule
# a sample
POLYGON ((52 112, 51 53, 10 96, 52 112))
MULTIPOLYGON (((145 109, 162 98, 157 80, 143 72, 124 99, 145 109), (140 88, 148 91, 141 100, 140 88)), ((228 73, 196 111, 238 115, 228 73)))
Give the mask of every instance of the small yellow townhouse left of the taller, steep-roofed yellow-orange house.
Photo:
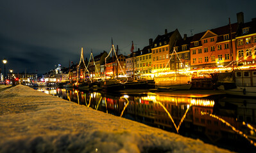
POLYGON ((151 58, 151 46, 148 45, 144 47, 142 50, 138 50, 139 55, 136 56, 137 58, 137 66, 135 74, 137 75, 148 75, 151 73, 151 65, 152 65, 152 58, 151 58))

